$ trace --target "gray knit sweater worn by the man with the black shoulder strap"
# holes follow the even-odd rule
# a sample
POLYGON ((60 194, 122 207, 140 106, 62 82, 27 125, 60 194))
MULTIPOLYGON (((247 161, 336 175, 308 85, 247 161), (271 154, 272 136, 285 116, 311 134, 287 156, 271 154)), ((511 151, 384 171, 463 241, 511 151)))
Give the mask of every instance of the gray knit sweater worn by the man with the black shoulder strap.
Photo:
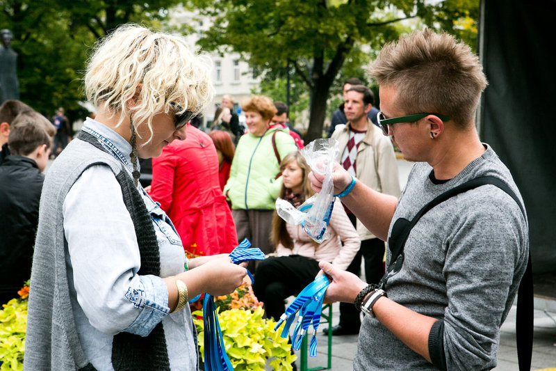
MULTIPOLYGON (((521 199, 512 175, 491 148, 443 184, 432 182, 431 171, 425 163, 411 170, 393 222, 411 220, 435 196, 480 175, 499 177, 521 199)), ((402 269, 389 278, 386 292, 402 306, 443 322, 448 370, 489 370, 496 366, 500 326, 512 306, 528 251, 528 224, 516 202, 493 185, 478 187, 420 219, 405 244, 402 269)), ((390 259, 387 250, 387 262, 390 259)), ((366 316, 354 370, 436 368, 366 316)))

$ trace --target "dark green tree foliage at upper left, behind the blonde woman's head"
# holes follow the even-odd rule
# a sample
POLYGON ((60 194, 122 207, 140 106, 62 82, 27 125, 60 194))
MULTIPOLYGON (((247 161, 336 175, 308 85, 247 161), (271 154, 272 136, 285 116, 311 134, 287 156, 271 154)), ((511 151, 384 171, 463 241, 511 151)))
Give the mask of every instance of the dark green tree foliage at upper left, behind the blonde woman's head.
POLYGON ((0 24, 18 56, 21 100, 51 118, 63 106, 70 121, 87 114, 83 78, 87 52, 119 24, 147 26, 167 17, 177 0, 0 0, 0 24))

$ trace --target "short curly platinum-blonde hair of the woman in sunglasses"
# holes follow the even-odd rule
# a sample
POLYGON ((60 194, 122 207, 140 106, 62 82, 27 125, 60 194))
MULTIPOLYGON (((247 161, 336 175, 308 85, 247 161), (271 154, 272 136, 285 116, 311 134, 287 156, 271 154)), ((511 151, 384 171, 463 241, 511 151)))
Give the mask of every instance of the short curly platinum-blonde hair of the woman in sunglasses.
POLYGON ((129 115, 147 123, 152 136, 156 114, 199 113, 211 102, 211 68, 211 59, 192 52, 183 35, 125 24, 93 50, 85 93, 95 106, 104 103, 112 115, 120 113, 118 125, 129 115), (130 107, 130 99, 138 104, 130 107))

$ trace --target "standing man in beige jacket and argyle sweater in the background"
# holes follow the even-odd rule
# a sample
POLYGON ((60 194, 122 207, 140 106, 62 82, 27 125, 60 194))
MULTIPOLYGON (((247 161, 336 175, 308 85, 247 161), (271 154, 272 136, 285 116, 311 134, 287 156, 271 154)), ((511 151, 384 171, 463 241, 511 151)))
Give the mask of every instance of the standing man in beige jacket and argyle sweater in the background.
MULTIPOLYGON (((336 129, 332 138, 339 142, 341 166, 353 177, 375 191, 400 196, 400 180, 392 142, 368 119, 373 106, 373 93, 362 85, 351 86, 344 95, 345 127, 336 129)), ((358 276, 361 258, 365 258, 367 283, 378 283, 384 274, 384 241, 378 239, 346 208, 347 216, 357 228, 361 248, 347 267, 358 276)), ((357 309, 349 303, 340 303, 340 324, 332 329, 333 335, 359 333, 361 319, 357 309)))

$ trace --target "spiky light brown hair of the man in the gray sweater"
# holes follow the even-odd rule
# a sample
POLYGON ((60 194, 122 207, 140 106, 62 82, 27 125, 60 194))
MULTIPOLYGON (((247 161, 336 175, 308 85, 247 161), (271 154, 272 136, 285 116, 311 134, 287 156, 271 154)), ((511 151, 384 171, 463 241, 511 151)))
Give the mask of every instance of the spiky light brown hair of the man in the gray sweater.
POLYGON ((384 45, 368 74, 379 86, 395 86, 395 103, 407 114, 450 116, 459 127, 473 123, 488 85, 479 58, 448 33, 416 31, 384 45))

